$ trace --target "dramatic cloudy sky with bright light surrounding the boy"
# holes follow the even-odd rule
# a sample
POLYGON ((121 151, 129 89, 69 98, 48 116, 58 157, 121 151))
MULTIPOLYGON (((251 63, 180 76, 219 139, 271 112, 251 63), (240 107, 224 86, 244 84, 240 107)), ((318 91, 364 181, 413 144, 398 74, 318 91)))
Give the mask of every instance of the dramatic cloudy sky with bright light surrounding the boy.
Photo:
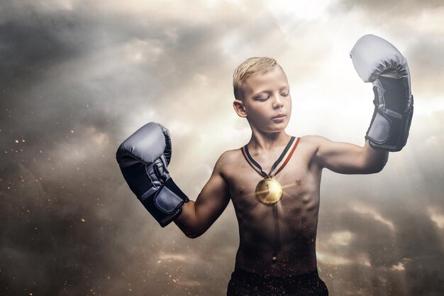
POLYGON ((411 135, 379 174, 323 173, 318 270, 331 295, 442 295, 443 16, 438 0, 2 0, 0 294, 224 295, 233 205, 198 239, 162 229, 116 148, 164 124, 195 199, 250 138, 231 79, 251 56, 287 72, 288 133, 363 145, 372 87, 348 53, 372 33, 409 61, 411 135))

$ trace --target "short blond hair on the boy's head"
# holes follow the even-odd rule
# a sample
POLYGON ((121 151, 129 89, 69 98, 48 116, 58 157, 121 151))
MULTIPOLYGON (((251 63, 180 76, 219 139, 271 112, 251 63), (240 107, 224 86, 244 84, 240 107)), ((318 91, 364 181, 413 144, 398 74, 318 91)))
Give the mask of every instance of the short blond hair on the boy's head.
POLYGON ((235 99, 243 99, 242 84, 248 77, 264 75, 274 69, 276 60, 271 57, 250 57, 240 64, 233 73, 233 89, 235 99))

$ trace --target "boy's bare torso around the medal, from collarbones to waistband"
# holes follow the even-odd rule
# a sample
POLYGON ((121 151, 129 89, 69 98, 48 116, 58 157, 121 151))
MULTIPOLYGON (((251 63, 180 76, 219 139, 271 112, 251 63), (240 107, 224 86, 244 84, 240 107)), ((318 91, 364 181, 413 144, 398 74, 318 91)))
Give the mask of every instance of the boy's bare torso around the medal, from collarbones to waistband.
MULTIPOLYGON (((250 155, 269 172, 284 146, 250 155)), ((313 162, 316 148, 304 137, 299 141, 289 163, 274 179, 283 187, 277 202, 263 204, 255 196, 255 187, 263 179, 245 160, 240 149, 228 151, 221 167, 227 180, 235 214, 238 218, 240 246, 237 268, 262 275, 298 275, 316 269, 316 229, 318 225, 319 187, 322 169, 313 162), (276 224, 279 224, 277 261, 276 224)))

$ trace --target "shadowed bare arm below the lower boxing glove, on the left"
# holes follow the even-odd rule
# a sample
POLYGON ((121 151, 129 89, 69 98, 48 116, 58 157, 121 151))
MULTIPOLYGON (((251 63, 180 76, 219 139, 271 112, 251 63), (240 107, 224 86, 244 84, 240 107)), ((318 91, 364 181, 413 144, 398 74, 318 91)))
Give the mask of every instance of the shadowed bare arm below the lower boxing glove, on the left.
POLYGON ((183 204, 182 214, 174 220, 189 238, 194 239, 204 234, 230 202, 228 183, 222 175, 224 155, 225 153, 216 162, 213 173, 196 202, 189 201, 183 204))

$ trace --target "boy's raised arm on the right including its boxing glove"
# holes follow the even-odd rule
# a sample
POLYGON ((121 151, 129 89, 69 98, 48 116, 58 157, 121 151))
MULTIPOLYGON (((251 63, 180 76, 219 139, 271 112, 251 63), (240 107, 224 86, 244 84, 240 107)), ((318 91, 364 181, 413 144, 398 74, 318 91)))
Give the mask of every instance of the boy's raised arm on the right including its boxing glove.
POLYGON ((413 95, 406 58, 387 40, 364 35, 350 52, 364 82, 372 82, 374 113, 364 147, 313 137, 315 158, 323 168, 343 174, 370 174, 384 168, 388 151, 406 144, 413 116, 413 95))

